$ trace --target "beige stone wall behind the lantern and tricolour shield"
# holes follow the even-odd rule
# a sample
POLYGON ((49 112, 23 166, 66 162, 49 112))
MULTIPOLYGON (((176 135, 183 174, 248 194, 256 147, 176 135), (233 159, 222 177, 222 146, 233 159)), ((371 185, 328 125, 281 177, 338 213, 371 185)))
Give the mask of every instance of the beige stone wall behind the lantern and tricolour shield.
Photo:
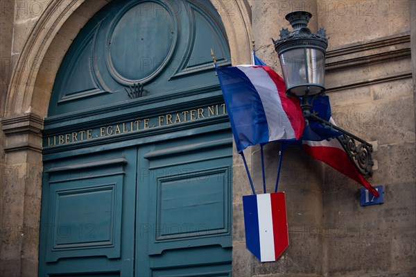
MULTIPOLYGON (((284 153, 279 191, 286 192, 290 245, 277 262, 263 264, 242 246, 234 249, 236 276, 416 276, 409 5, 414 3, 252 1, 257 56, 277 72, 279 60, 270 37, 277 39, 282 27, 291 29, 284 19, 288 12, 307 10, 313 15, 311 31, 320 26, 327 30, 325 83, 333 118, 372 142, 375 170, 369 181, 384 186, 385 203, 361 207, 360 185, 302 151, 289 149, 284 153)), ((278 153, 278 144, 265 147, 270 187, 278 153)), ((257 184, 261 184, 259 156, 254 149, 252 171, 257 184)), ((242 221, 241 217, 239 210, 234 212, 234 219, 242 221)), ((242 235, 239 230, 234 236, 239 244, 244 242, 242 235)))

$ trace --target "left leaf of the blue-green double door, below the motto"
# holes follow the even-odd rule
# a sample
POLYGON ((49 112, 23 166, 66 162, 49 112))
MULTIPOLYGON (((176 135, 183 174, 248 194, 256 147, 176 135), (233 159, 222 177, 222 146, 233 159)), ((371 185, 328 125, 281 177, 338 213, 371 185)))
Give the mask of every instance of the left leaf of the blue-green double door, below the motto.
POLYGON ((137 149, 45 164, 41 276, 132 276, 136 165, 137 149))

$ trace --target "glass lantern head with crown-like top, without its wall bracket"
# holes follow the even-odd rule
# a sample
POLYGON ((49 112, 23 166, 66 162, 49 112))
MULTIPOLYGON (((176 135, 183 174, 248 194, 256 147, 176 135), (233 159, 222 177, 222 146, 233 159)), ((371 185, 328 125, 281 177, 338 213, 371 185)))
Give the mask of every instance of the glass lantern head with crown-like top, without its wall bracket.
POLYGON ((273 40, 279 54, 281 69, 286 83, 286 94, 312 96, 324 92, 325 52, 328 38, 324 28, 311 33, 307 28, 311 13, 291 12, 286 20, 293 31, 284 28, 279 40, 273 40))

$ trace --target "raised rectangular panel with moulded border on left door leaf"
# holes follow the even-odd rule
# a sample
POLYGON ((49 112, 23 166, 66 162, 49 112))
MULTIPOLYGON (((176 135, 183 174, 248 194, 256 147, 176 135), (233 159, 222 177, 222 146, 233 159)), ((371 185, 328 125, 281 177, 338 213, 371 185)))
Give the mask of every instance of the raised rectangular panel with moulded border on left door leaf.
POLYGON ((123 177, 92 180, 96 185, 72 181, 51 187, 46 262, 94 255, 120 258, 123 177))

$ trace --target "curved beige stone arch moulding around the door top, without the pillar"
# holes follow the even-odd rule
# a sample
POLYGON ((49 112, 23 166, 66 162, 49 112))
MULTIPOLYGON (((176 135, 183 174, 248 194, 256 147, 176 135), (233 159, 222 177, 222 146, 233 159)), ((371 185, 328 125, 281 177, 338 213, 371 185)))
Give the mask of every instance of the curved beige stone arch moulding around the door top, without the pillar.
MULTIPOLYGON (((100 0, 94 1, 94 5, 88 5, 88 3, 93 1, 61 0, 52 1, 47 6, 37 24, 33 27, 33 31, 29 35, 23 51, 21 51, 17 67, 12 74, 12 81, 6 98, 5 115, 18 116, 28 111, 46 115, 47 105, 40 106, 40 103, 37 103, 36 100, 34 101, 33 95, 36 95, 36 99, 43 99, 43 101, 47 99, 49 101, 53 80, 59 69, 59 63, 71 44, 71 38, 75 37, 82 27, 79 25, 79 22, 81 21, 82 25, 87 23, 88 19, 95 12, 110 2, 108 0, 100 0), (79 10, 85 10, 83 6, 87 6, 87 14, 82 11, 79 12, 79 10), (94 10, 91 10, 91 8, 94 8, 94 10), (76 24, 69 26, 71 23, 76 24), (67 41, 64 41, 64 38, 61 38, 60 41, 55 41, 58 33, 62 30, 69 32, 69 35, 64 37, 67 41), (53 61, 52 67, 49 65, 48 60, 44 60, 45 57, 49 61, 53 61), (34 62, 41 66, 33 66, 34 62), (42 75, 42 81, 39 81, 39 75, 42 75)), ((236 65, 250 62, 252 31, 249 11, 243 1, 211 0, 211 3, 223 20, 232 63, 236 65)))

